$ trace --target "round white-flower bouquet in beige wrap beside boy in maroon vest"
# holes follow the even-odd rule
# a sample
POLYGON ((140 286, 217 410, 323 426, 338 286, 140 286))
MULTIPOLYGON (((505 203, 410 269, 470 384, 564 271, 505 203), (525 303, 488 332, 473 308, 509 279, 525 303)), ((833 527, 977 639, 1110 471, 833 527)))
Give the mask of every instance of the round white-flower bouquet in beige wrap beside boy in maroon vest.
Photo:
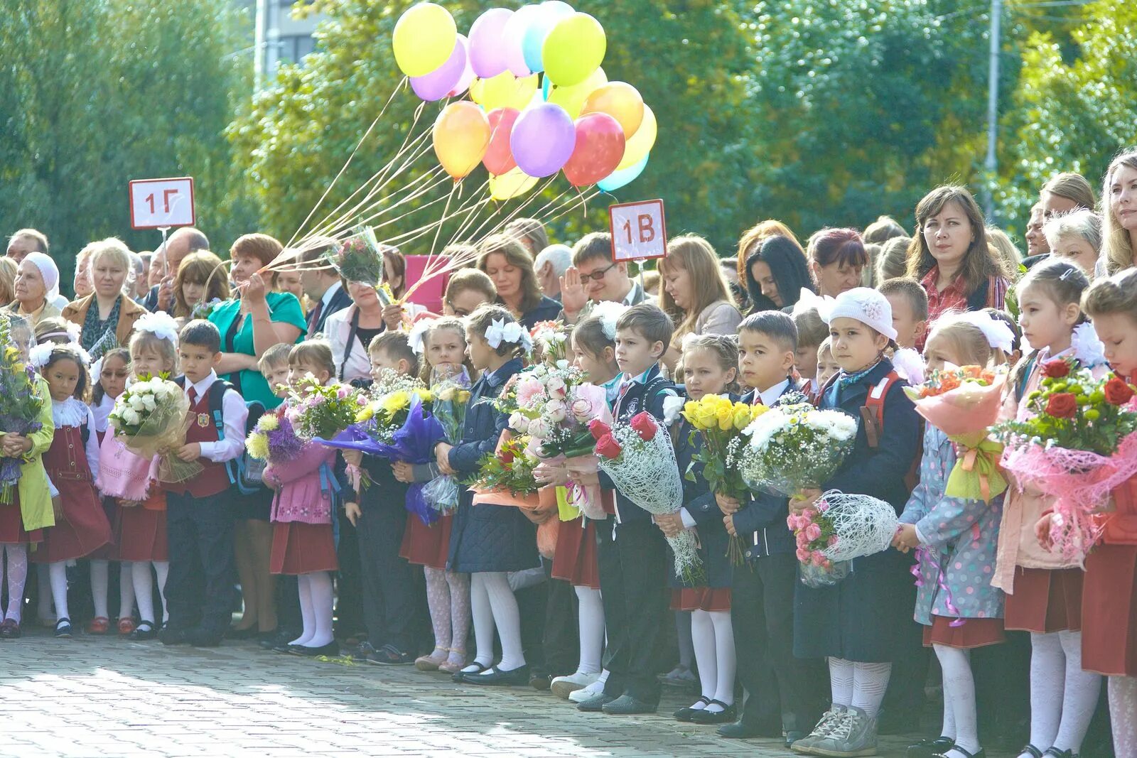
POLYGON ((150 376, 134 382, 118 395, 108 423, 115 427, 115 436, 122 438, 134 455, 158 456, 158 481, 174 484, 201 470, 198 461, 177 457, 185 444, 189 410, 190 399, 182 388, 161 376, 150 376))

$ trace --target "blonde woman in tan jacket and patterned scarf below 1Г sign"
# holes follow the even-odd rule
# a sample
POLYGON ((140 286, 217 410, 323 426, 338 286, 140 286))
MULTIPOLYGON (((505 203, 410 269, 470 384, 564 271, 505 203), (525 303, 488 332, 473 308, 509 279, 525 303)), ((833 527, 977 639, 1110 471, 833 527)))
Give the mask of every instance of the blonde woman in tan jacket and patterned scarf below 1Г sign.
POLYGON ((80 252, 80 258, 84 257, 93 291, 68 303, 63 317, 83 327, 80 344, 92 358, 99 358, 108 350, 130 343, 134 322, 146 309, 127 294, 134 284, 134 265, 122 240, 108 238, 92 242, 80 252))

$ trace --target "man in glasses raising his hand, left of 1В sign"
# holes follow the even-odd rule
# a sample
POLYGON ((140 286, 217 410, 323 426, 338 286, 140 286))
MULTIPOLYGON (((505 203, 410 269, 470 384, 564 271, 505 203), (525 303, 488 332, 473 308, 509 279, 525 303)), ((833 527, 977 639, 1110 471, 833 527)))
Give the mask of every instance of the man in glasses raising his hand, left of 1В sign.
POLYGON ((639 282, 628 276, 626 263, 612 263, 612 235, 607 232, 592 232, 581 238, 573 248, 572 264, 561 277, 564 308, 558 318, 566 324, 575 324, 588 316, 592 303, 604 300, 626 306, 655 302, 639 282))

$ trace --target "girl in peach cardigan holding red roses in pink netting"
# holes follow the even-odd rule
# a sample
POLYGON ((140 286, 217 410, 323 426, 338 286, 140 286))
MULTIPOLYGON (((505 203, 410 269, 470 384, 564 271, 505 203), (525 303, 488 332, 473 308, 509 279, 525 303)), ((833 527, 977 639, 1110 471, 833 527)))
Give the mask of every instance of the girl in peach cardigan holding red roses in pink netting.
MULTIPOLYGON (((1079 306, 1087 286, 1081 269, 1064 260, 1039 264, 1019 280, 1019 324, 1034 352, 1007 380, 1004 418, 1029 416, 1027 398, 1049 360, 1072 358, 1095 375, 1107 370, 1099 348, 1092 355, 1095 350, 1084 347, 1082 338, 1097 342, 1079 306)), ((1035 536, 1035 525, 1049 503, 1030 482, 1011 485, 991 580, 1006 593, 1006 628, 1030 632, 1030 742, 1020 758, 1078 755, 1102 686, 1101 676, 1081 666, 1084 572, 1077 561, 1038 544, 1035 536)))

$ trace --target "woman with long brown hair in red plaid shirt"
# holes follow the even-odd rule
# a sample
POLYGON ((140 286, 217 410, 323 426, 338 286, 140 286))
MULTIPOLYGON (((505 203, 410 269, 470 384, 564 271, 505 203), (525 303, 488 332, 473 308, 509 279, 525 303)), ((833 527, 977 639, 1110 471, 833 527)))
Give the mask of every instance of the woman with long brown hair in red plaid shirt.
MULTIPOLYGON (((916 206, 908 276, 928 292, 928 320, 947 310, 1003 309, 1007 275, 987 243, 984 213, 962 186, 940 186, 916 206)), ((923 340, 916 342, 923 350, 923 340)))

